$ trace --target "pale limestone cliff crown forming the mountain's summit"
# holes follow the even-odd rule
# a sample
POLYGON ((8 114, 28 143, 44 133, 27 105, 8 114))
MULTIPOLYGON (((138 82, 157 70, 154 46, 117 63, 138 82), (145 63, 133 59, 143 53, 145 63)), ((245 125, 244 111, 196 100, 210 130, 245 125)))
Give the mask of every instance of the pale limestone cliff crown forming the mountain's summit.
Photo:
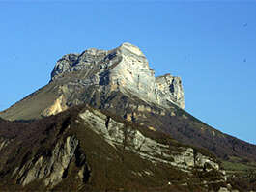
POLYGON ((141 50, 129 43, 104 51, 88 49, 61 58, 51 73, 51 81, 75 71, 84 71, 79 83, 85 88, 99 86, 101 92, 121 91, 169 108, 175 103, 185 108, 182 80, 170 74, 155 77, 141 50))

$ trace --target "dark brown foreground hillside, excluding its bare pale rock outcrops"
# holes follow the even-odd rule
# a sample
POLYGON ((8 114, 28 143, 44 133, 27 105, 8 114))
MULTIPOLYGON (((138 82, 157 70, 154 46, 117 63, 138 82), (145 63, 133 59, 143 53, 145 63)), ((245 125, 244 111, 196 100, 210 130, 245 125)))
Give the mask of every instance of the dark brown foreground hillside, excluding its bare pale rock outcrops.
MULTIPOLYGON (((78 114, 87 110, 96 114, 100 113, 95 109, 85 108, 83 105, 71 107, 56 116, 35 120, 31 123, 12 123, 0 120, 0 136, 5 138, 3 141, 6 142, 6 146, 0 150, 2 153, 0 156, 1 190, 179 192, 208 191, 210 188, 216 190, 220 186, 225 186, 223 180, 207 187, 201 184, 201 179, 221 179, 222 176, 218 171, 209 172, 212 174, 204 176, 201 171, 195 169, 194 173, 187 175, 176 167, 143 159, 136 152, 128 151, 126 148, 118 147, 115 150, 100 135, 92 131, 93 129, 89 124, 79 123, 78 114), (66 149, 65 141, 69 137, 79 141, 69 166, 58 184, 54 187, 44 186, 43 183, 47 180, 47 175, 41 179, 36 179, 41 176, 40 170, 48 166, 47 162, 53 158, 58 144, 63 146, 61 149, 66 149), (38 174, 31 175, 36 171, 35 167, 42 158, 48 160, 42 162, 40 169, 37 170, 38 174), (23 169, 27 169, 27 171, 23 172, 23 169), (32 179, 28 176, 36 178, 29 184, 22 186, 26 180, 32 179), (198 178, 199 176, 200 178, 198 178), (168 182, 172 184, 170 185, 168 182), (184 185, 185 182, 188 185, 184 185)), ((104 112, 104 114, 109 118, 111 117, 112 120, 125 124, 125 127, 132 127, 132 129, 141 131, 143 135, 147 135, 163 145, 169 145, 171 151, 181 151, 181 148, 188 148, 166 134, 124 121, 118 116, 112 117, 108 112, 104 112)), ((128 143, 124 143, 124 145, 128 145, 128 143)), ((198 150, 197 152, 209 155, 205 151, 198 150)), ((48 175, 48 177, 50 178, 52 175, 48 175)))

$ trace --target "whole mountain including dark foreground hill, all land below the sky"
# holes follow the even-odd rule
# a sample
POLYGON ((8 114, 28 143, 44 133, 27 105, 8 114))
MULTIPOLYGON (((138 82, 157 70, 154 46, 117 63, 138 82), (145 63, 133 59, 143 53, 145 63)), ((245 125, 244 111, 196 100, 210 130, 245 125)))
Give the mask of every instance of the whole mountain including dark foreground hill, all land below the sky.
MULTIPOLYGON (((100 191, 110 182, 115 186, 110 191, 216 191, 227 187, 227 176, 255 170, 255 145, 202 123, 184 109, 181 78, 155 77, 145 55, 132 44, 65 55, 47 85, 0 113, 5 119, 0 121, 1 146, 9 146, 2 149, 9 159, 0 158, 3 183, 57 190, 78 177, 81 182, 73 190, 102 186, 100 191), (6 130, 9 126, 12 131, 6 130)), ((228 179, 240 190, 245 187, 238 183, 247 183, 228 179)))

